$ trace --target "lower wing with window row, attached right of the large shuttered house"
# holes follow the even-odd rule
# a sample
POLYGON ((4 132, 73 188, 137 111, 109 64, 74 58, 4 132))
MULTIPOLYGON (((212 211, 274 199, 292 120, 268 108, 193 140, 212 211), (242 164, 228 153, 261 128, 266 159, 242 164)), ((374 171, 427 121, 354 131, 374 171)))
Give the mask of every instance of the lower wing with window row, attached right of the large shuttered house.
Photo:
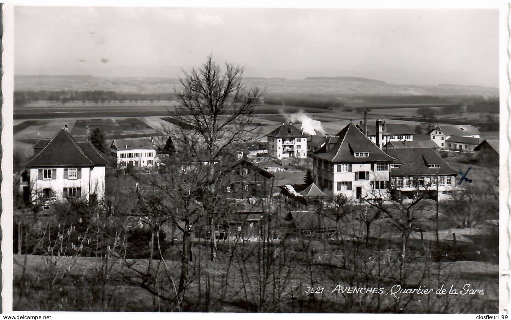
POLYGON ((433 149, 428 148, 393 148, 387 154, 396 158, 390 164, 391 188, 399 190, 403 196, 410 198, 417 190, 428 190, 430 197, 436 197, 438 177, 438 199, 446 198, 456 190, 456 175, 444 159, 433 149))

